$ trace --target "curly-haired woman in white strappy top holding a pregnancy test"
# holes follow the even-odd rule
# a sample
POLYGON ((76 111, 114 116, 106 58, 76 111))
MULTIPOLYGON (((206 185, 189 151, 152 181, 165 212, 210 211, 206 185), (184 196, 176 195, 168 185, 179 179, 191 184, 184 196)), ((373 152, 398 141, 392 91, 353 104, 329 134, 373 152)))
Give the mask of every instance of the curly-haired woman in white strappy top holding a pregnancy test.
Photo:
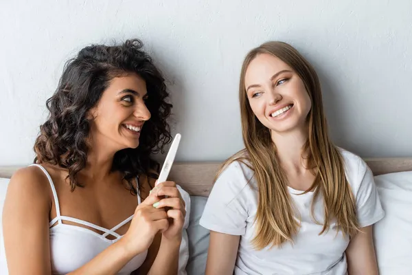
POLYGON ((184 201, 172 181, 150 191, 150 155, 171 140, 167 98, 139 40, 90 45, 67 63, 34 164, 5 199, 10 274, 177 273, 184 201))

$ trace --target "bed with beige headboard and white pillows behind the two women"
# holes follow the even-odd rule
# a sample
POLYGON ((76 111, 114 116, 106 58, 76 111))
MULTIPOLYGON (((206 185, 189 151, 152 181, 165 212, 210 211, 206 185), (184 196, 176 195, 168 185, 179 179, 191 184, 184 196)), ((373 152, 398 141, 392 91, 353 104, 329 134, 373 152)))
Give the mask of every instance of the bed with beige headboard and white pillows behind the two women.
MULTIPOLYGON (((376 255, 381 275, 412 274, 412 157, 366 158, 375 176, 385 218, 374 225, 376 255)), ((21 166, 0 166, 0 211, 8 178, 21 166)), ((204 274, 209 232, 198 225, 220 162, 176 162, 170 179, 190 195, 187 228, 187 274, 204 274)), ((0 229, 1 233, 1 229, 0 229)), ((0 241, 3 241, 1 236, 0 241)), ((4 274, 0 250, 0 274, 4 274)))

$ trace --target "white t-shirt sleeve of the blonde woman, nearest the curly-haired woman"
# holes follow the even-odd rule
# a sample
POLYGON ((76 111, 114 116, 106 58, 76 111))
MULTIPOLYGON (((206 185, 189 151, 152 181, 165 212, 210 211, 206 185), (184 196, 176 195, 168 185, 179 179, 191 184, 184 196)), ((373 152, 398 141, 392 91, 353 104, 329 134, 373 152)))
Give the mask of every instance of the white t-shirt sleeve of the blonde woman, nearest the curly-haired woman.
POLYGON ((238 162, 231 163, 216 180, 200 224, 208 230, 243 235, 249 216, 248 180, 238 162))

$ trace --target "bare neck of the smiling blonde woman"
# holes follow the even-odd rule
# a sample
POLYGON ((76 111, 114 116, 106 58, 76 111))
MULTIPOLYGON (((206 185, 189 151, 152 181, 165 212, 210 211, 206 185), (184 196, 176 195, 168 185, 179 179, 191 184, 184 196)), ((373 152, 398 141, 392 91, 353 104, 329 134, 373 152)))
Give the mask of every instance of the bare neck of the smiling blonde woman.
POLYGON ((307 160, 304 158, 306 152, 303 149, 308 140, 307 127, 287 133, 271 131, 271 137, 282 168, 293 173, 305 173, 307 160))

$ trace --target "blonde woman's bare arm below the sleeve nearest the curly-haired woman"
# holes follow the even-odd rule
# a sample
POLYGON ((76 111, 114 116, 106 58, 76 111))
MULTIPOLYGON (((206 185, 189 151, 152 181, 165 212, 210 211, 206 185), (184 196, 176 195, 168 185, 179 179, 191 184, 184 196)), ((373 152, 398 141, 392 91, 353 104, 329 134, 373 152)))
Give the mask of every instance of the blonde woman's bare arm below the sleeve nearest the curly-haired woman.
POLYGON ((238 256, 240 236, 210 232, 206 275, 231 275, 238 256))

